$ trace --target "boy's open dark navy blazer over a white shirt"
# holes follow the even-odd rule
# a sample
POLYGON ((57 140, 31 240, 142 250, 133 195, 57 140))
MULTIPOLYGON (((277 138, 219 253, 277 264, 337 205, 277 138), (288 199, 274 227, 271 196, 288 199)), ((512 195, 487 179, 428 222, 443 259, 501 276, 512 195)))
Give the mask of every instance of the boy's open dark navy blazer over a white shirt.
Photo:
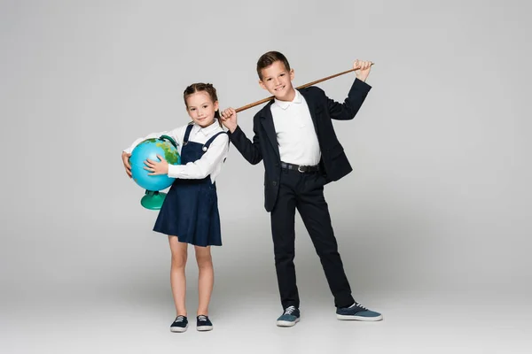
MULTIPOLYGON (((325 96, 325 92, 317 87, 300 89, 299 92, 309 105, 310 116, 316 128, 317 140, 321 150, 321 173, 328 182, 338 181, 353 171, 348 158, 341 146, 332 119, 353 119, 356 112, 364 103, 365 97, 372 87, 356 79, 349 89, 348 97, 343 104, 325 96)), ((253 119, 253 142, 237 127, 229 134, 233 145, 250 164, 256 165, 264 161, 264 208, 271 212, 278 196, 279 180, 281 178, 281 159, 279 155, 277 134, 271 116, 270 105, 274 100, 257 112, 253 119)))

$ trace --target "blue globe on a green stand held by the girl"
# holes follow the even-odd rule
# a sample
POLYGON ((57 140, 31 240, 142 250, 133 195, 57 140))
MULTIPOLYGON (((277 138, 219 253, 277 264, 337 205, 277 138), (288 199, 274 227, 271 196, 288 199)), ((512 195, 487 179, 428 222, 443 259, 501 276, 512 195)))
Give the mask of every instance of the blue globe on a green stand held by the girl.
POLYGON ((140 203, 146 209, 160 209, 166 196, 166 193, 161 193, 160 190, 168 189, 175 179, 166 174, 149 175, 148 173, 151 172, 145 170, 145 160, 149 158, 153 161, 159 161, 157 155, 160 155, 167 160, 169 165, 180 165, 181 156, 176 146, 174 139, 167 135, 161 135, 159 138, 146 139, 144 142, 140 142, 131 151, 129 157, 131 177, 138 186, 145 189, 145 196, 140 203))

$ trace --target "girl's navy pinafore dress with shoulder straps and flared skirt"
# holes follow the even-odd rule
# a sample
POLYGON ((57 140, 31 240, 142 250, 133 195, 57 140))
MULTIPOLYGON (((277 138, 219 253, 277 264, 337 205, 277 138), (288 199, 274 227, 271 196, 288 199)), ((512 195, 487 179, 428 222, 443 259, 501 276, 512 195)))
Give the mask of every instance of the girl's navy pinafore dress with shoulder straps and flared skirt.
MULTIPOLYGON (((200 159, 220 132, 202 144, 189 142, 193 125, 186 127, 181 164, 200 159)), ((203 179, 179 179, 172 184, 160 207, 153 231, 176 235, 179 242, 196 246, 222 246, 216 185, 210 175, 203 179)))

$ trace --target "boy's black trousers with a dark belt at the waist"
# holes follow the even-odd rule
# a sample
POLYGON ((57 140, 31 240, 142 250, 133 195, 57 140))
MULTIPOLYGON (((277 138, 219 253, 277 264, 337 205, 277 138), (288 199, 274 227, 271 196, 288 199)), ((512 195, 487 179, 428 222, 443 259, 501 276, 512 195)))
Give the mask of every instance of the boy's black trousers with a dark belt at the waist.
POLYGON ((278 288, 283 309, 299 308, 295 266, 295 209, 309 232, 325 277, 329 283, 334 305, 347 307, 355 302, 343 269, 338 244, 332 231, 331 216, 325 202, 325 177, 318 172, 300 173, 283 169, 277 202, 270 213, 271 233, 275 255, 278 288))

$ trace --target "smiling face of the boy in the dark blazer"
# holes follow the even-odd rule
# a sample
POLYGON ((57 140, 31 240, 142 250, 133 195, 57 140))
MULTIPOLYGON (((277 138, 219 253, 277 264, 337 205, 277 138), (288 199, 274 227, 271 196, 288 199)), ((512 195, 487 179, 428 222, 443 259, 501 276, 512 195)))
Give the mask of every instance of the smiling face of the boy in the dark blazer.
POLYGON ((259 84, 262 89, 267 89, 271 95, 280 101, 292 101, 295 90, 292 86, 293 69, 286 69, 282 61, 277 60, 270 66, 261 70, 261 80, 259 84))

